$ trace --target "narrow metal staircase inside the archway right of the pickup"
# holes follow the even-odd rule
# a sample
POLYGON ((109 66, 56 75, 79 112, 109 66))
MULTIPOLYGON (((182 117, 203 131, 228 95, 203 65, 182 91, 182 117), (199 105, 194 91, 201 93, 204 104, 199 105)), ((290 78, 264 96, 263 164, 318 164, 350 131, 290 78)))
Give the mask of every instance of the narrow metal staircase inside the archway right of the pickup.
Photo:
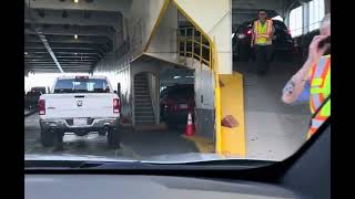
POLYGON ((149 125, 154 124, 154 119, 146 74, 136 74, 134 75, 134 123, 149 125))

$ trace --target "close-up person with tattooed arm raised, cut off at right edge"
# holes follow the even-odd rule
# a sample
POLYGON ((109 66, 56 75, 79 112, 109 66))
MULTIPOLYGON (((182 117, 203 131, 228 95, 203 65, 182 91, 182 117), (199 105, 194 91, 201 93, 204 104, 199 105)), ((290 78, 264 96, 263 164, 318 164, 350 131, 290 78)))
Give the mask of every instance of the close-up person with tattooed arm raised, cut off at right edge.
POLYGON ((310 44, 306 62, 288 81, 282 96, 287 104, 310 101, 313 116, 307 139, 331 116, 331 53, 327 53, 331 43, 320 45, 331 36, 331 13, 324 17, 320 31, 321 35, 314 36, 310 44))

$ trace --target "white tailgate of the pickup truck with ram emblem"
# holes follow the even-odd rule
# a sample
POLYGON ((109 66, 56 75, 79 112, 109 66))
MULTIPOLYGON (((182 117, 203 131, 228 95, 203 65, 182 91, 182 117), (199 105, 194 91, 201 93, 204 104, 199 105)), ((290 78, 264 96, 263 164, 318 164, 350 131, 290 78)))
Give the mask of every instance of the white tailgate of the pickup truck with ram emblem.
POLYGON ((43 118, 118 117, 113 113, 113 93, 47 94, 43 118))

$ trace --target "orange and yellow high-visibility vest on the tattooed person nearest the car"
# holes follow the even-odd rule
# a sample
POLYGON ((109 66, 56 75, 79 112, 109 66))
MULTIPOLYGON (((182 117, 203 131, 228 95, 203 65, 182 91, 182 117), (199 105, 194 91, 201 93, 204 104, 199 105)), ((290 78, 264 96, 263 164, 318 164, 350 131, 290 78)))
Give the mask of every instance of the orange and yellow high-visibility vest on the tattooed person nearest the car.
MULTIPOLYGON (((310 108, 311 113, 314 114, 323 104, 324 100, 331 94, 331 55, 322 56, 318 63, 311 67, 310 75, 310 108)), ((312 118, 307 139, 316 133, 328 116, 331 116, 331 100, 328 100, 322 109, 318 111, 317 115, 312 118)))

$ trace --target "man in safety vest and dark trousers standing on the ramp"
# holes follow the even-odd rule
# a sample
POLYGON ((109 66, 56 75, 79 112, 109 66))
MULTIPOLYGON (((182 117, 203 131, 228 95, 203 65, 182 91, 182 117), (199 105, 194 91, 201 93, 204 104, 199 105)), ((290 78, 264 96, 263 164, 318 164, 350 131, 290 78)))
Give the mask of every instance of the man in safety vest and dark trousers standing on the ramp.
POLYGON ((258 20, 253 22, 251 46, 255 48, 256 69, 260 75, 265 75, 272 53, 273 21, 266 19, 266 11, 258 11, 258 20))

